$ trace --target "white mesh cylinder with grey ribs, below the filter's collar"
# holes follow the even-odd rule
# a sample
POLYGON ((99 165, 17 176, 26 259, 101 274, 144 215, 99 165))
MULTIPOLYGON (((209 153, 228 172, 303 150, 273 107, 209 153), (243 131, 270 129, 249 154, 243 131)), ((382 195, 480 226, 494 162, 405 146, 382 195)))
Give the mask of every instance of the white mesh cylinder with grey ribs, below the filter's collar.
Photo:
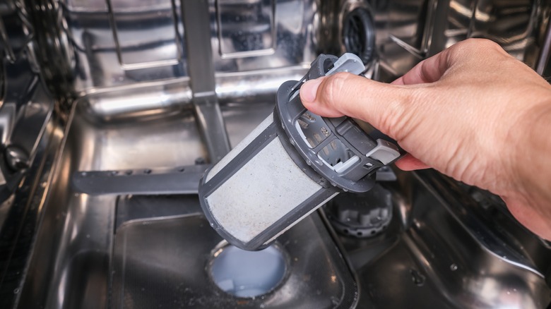
POLYGON ((249 250, 267 246, 338 193, 295 164, 278 138, 273 114, 204 179, 200 198, 209 222, 227 241, 249 250))

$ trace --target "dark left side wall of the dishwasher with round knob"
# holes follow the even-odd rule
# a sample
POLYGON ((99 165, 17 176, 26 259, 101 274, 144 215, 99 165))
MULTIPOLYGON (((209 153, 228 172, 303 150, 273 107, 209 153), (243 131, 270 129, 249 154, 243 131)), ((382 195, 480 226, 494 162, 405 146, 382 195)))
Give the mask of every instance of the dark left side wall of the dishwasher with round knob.
POLYGON ((49 172, 61 136, 54 99, 28 48, 34 30, 19 2, 0 4, 0 307, 20 298, 49 172))

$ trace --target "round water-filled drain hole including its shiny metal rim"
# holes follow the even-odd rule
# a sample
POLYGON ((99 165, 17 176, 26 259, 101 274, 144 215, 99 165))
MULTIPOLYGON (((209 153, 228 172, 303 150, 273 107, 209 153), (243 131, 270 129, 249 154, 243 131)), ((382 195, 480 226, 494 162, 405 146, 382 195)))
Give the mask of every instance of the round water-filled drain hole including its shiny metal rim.
MULTIPOLYGON (((223 293, 227 293, 235 298, 250 299, 265 296, 279 289, 280 286, 283 286, 290 274, 290 258, 278 242, 272 243, 271 246, 263 250, 249 251, 233 246, 227 241, 221 241, 211 251, 206 272, 208 278, 211 279, 216 288, 223 291, 223 293), (228 254, 230 254, 230 256, 228 256, 228 254), (256 257, 254 257, 254 255, 256 255, 256 257), (273 255, 276 256, 274 257, 273 255), (268 257, 268 259, 266 257, 268 257), (220 262, 227 262, 227 260, 232 258, 239 259, 239 267, 242 267, 241 272, 247 271, 247 267, 251 265, 252 260, 254 260, 253 262, 262 263, 263 267, 260 267, 260 272, 254 272, 244 276, 244 281, 249 283, 246 289, 235 289, 235 286, 233 286, 233 280, 235 278, 232 278, 232 289, 228 289, 228 286, 224 286, 225 282, 220 282, 220 279, 225 279, 228 273, 234 272, 234 274, 237 274, 239 272, 238 269, 223 269, 223 273, 215 273, 219 272, 217 265, 220 264, 220 262), (272 265, 271 262, 273 262, 273 260, 278 260, 278 265, 272 265), (276 268, 273 269, 273 274, 269 273, 272 270, 270 268, 271 266, 276 268), (259 287, 251 287, 251 284, 259 287)), ((243 281, 243 278, 239 280, 243 281)))

